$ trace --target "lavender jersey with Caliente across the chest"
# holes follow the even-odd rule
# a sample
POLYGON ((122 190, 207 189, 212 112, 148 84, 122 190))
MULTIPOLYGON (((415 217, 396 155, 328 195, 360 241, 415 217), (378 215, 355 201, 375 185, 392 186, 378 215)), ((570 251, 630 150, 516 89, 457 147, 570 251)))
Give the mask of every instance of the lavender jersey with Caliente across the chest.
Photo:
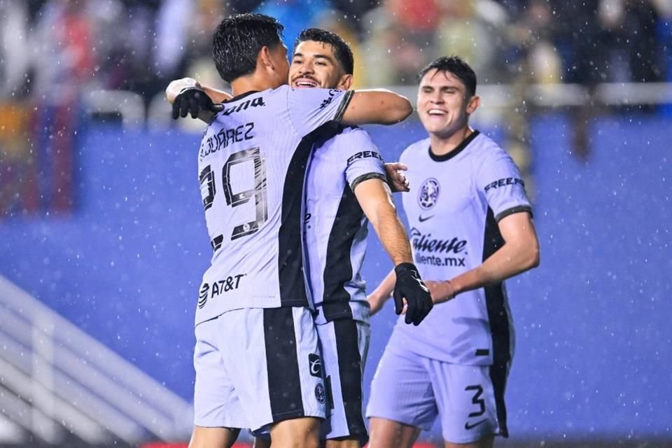
MULTIPOLYGON (((429 148, 425 139, 402 153, 413 188, 402 201, 422 278, 447 280, 481 265, 503 244, 501 218, 531 207, 513 160, 483 134, 474 132, 442 157, 429 148)), ((461 293, 421 325, 398 321, 390 343, 449 363, 507 363, 514 335, 504 283, 461 293)))

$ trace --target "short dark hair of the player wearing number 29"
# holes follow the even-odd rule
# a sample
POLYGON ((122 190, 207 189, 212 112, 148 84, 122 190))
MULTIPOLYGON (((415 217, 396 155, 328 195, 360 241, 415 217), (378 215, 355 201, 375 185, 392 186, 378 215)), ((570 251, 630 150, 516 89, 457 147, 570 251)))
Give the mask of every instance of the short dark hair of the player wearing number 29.
POLYGON ((237 14, 220 22, 212 36, 212 57, 219 76, 230 83, 253 73, 261 48, 282 44, 284 27, 263 14, 237 14))

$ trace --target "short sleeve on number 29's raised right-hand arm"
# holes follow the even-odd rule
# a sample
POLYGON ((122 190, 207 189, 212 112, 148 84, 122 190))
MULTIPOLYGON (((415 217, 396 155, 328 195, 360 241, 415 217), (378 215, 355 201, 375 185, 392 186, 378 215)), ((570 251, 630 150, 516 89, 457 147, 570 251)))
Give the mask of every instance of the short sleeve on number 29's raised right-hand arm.
POLYGON ((294 129, 305 137, 325 123, 339 123, 352 94, 352 90, 288 88, 287 107, 294 129))

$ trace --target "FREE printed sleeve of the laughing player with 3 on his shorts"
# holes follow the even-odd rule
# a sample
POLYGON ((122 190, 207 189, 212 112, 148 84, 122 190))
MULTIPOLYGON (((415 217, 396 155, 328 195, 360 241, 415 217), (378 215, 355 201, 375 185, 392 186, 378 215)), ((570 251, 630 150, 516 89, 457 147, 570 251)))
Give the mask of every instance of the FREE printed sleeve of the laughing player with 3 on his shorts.
POLYGON ((476 183, 496 221, 521 211, 532 212, 520 170, 503 150, 488 152, 477 170, 476 183))

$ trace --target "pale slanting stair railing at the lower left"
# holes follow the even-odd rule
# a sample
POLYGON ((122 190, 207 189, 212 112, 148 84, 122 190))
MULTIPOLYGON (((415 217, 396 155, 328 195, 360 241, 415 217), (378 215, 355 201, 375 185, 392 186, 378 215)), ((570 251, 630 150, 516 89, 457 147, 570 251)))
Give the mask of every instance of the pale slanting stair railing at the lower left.
POLYGON ((49 444, 188 438, 188 402, 3 276, 0 321, 0 407, 15 432, 49 444))

